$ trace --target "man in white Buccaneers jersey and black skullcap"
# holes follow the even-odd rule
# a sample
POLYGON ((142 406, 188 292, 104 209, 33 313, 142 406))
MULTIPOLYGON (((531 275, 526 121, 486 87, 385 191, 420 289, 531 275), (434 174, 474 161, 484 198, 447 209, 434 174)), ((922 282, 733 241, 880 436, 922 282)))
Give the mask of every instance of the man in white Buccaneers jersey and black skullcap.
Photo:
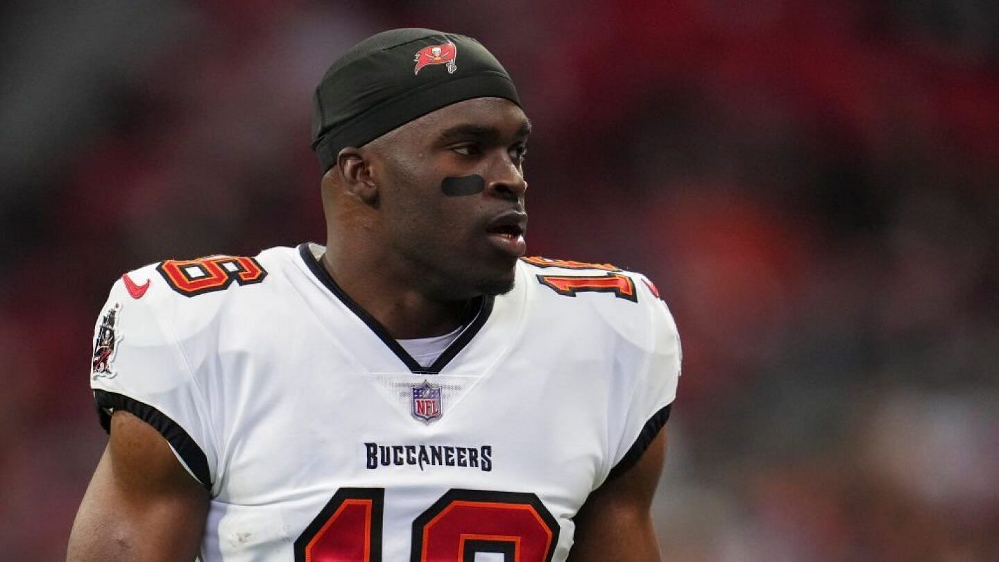
POLYGON ((125 274, 70 560, 658 560, 679 376, 654 286, 522 258, 530 124, 474 39, 375 35, 316 93, 327 244, 125 274))

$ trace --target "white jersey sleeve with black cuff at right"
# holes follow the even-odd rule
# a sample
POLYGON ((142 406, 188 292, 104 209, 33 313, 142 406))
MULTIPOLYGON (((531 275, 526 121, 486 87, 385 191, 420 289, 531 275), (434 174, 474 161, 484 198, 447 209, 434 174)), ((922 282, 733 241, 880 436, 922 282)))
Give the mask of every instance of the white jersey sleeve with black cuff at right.
POLYGON ((645 357, 628 402, 614 452, 610 480, 633 466, 669 418, 680 376, 680 341, 676 324, 666 304, 651 291, 642 294, 649 302, 649 341, 645 357))

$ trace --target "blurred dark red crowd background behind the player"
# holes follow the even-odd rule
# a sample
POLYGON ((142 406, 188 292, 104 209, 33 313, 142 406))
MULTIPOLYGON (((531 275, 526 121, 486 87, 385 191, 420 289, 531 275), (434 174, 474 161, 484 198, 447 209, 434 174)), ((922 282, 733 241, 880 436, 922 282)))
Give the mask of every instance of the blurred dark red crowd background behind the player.
POLYGON ((0 8, 0 558, 56 560, 124 271, 323 241, 311 95, 479 38, 534 134, 528 252, 646 273, 683 376, 665 560, 999 560, 999 4, 91 0, 0 8))

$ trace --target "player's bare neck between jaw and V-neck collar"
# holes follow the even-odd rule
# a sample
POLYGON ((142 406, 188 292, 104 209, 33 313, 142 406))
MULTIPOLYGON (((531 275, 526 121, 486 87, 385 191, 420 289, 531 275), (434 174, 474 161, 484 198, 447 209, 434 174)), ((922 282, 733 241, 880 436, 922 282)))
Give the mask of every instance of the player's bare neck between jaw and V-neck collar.
POLYGON ((361 308, 371 314, 396 339, 441 336, 462 325, 463 301, 439 301, 430 298, 404 280, 413 276, 392 275, 384 266, 368 264, 352 253, 350 261, 338 256, 336 248, 327 248, 320 260, 340 288, 361 308))

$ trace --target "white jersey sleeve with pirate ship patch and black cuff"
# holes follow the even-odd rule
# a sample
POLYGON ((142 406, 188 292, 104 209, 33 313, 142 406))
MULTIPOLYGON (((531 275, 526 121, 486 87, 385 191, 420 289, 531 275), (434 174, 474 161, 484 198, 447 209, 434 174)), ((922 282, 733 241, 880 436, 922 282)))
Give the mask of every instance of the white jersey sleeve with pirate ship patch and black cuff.
POLYGON ((90 386, 105 431, 115 410, 142 419, 211 490, 217 466, 205 401, 167 318, 165 303, 134 299, 115 283, 94 330, 90 386), (158 306, 160 305, 160 306, 158 306))

